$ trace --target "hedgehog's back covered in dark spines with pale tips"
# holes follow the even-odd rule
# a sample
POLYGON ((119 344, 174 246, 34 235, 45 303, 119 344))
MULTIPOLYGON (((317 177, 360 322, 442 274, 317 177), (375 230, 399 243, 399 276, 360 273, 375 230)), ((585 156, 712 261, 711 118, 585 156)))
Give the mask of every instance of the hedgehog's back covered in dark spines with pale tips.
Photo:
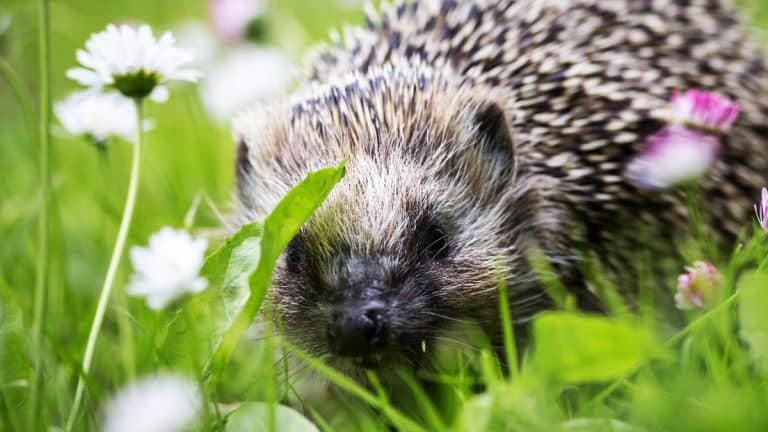
POLYGON ((626 164, 664 125, 674 91, 735 99, 742 115, 701 184, 725 237, 749 223, 768 174, 768 73, 719 1, 400 2, 366 21, 320 52, 311 80, 404 58, 503 88, 531 170, 556 179, 550 198, 595 247, 615 247, 637 221, 667 238, 684 228, 682 194, 635 189, 626 164))

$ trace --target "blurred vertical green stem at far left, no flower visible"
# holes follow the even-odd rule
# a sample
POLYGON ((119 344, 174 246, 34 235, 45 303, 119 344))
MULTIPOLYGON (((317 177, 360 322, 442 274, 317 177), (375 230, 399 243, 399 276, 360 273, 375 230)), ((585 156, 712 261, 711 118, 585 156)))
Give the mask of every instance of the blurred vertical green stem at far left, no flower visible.
MULTIPOLYGON (((35 270, 35 291, 32 311, 32 358, 34 374, 32 378, 30 423, 37 426, 44 397, 43 373, 43 329, 45 328, 45 309, 47 305, 49 257, 49 216, 51 212, 51 169, 50 169, 50 4, 49 0, 40 0, 38 14, 39 53, 40 53, 40 115, 38 117, 38 138, 40 140, 40 217, 37 226, 37 263, 35 270)), ((37 429, 34 427, 33 429, 37 429)))

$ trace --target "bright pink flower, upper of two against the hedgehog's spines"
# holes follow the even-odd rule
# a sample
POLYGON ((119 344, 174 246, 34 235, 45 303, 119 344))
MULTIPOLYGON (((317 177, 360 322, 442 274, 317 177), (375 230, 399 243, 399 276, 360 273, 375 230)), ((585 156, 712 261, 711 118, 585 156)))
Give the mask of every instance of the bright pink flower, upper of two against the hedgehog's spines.
POLYGON ((739 104, 717 93, 688 90, 671 101, 675 121, 701 129, 725 132, 739 116, 739 104))

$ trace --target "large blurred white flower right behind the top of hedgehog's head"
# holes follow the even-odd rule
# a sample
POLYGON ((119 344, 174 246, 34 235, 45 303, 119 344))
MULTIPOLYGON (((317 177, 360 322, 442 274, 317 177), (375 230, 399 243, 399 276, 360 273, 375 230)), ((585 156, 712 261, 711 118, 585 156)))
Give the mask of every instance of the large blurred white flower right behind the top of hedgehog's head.
POLYGON ((280 50, 241 46, 208 71, 200 97, 213 118, 226 122, 254 102, 284 91, 292 76, 293 65, 280 50))

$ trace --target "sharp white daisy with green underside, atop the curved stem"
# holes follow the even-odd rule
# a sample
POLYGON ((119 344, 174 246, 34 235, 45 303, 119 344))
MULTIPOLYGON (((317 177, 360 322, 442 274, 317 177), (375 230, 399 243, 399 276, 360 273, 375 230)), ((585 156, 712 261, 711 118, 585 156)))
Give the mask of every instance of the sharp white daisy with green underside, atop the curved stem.
POLYGON ((192 54, 175 46, 170 32, 155 39, 147 25, 134 29, 109 24, 91 35, 85 50, 77 50, 83 67, 67 71, 67 76, 94 88, 115 88, 131 98, 150 96, 156 102, 168 99, 170 81, 196 81, 200 72, 188 68, 192 54))

